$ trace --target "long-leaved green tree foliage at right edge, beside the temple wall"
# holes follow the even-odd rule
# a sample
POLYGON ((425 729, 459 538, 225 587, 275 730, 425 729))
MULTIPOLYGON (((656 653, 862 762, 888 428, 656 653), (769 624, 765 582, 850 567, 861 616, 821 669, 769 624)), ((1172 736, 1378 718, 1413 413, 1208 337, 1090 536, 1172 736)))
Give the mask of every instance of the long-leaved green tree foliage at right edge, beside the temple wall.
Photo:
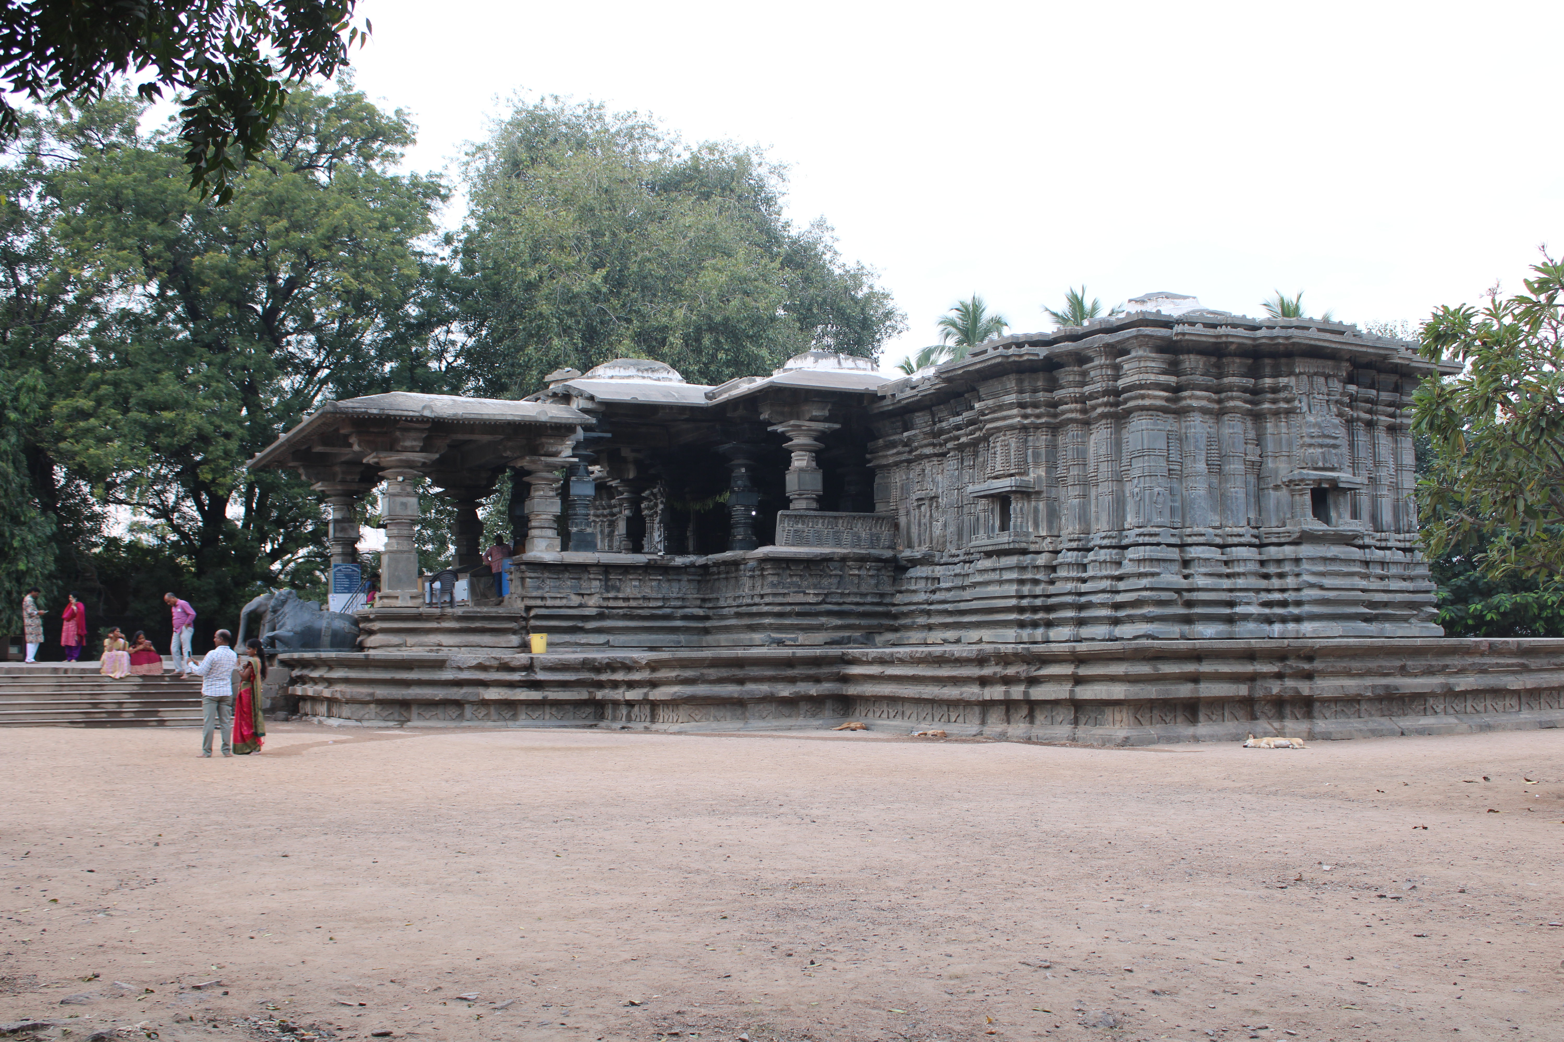
POLYGON ((1525 294, 1495 289, 1481 311, 1445 306, 1423 323, 1423 355, 1462 366, 1414 400, 1412 430, 1434 448, 1423 539, 1431 558, 1472 550, 1492 580, 1564 573, 1564 266, 1544 255, 1531 270, 1525 294))

